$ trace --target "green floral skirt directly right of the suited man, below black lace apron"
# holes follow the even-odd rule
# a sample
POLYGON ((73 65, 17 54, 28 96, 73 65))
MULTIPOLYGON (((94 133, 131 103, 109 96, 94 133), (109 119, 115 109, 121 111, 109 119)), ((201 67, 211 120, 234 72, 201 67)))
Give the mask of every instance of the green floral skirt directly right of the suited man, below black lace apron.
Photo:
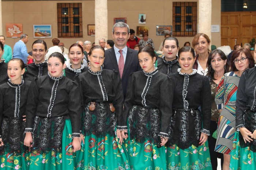
POLYGON ((150 141, 125 141, 132 170, 166 170, 166 147, 158 148, 150 141))

